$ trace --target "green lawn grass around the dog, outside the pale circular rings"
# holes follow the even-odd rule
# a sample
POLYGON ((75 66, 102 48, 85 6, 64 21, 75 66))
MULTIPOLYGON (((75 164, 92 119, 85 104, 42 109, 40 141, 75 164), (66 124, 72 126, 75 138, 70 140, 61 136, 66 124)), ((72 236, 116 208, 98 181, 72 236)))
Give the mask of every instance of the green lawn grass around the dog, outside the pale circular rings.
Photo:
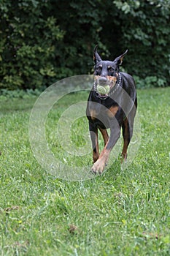
MULTIPOLYGON (((117 160, 81 182, 55 178, 36 162, 28 140, 36 97, 0 97, 0 255, 170 255, 169 95, 170 88, 138 91, 142 138, 134 162, 121 170, 117 160)), ((91 165, 91 155, 66 154, 54 127, 85 97, 71 94, 47 118, 49 146, 71 166, 91 165)), ((84 118, 77 126, 88 129, 84 118)), ((85 145, 79 132, 72 140, 85 145)))

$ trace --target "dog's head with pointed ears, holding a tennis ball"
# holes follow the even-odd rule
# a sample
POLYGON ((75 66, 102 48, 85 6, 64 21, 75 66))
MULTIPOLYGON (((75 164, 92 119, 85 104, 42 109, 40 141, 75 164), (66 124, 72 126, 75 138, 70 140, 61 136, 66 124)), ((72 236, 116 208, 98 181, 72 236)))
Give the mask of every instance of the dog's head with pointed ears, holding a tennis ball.
POLYGON ((120 65, 123 62, 123 57, 128 52, 117 57, 114 61, 102 61, 101 56, 97 52, 97 45, 94 48, 93 60, 94 60, 94 80, 96 85, 96 91, 101 97, 108 96, 112 91, 115 83, 118 79, 120 65))

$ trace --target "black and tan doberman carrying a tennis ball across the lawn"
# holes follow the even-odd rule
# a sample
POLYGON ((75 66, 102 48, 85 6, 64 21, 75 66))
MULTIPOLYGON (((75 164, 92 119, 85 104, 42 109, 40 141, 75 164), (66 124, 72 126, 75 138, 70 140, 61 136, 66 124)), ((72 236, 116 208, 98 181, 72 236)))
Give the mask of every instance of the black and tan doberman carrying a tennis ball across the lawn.
POLYGON ((134 78, 125 72, 120 72, 120 64, 125 51, 114 61, 102 61, 97 52, 93 52, 94 84, 88 97, 86 115, 89 121, 90 138, 93 146, 93 173, 102 173, 109 159, 109 153, 120 138, 123 129, 122 156, 127 157, 134 117, 137 108, 136 86, 134 78), (110 136, 107 129, 110 128, 110 136), (104 139, 104 149, 99 154, 98 129, 104 139))

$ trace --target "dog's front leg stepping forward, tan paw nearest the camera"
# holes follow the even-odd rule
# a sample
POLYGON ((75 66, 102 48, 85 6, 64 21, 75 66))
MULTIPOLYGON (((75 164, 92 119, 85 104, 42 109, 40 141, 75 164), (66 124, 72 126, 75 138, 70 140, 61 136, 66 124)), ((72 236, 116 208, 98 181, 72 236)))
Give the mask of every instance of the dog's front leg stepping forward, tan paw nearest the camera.
POLYGON ((120 138, 120 126, 117 123, 117 125, 110 127, 110 137, 107 142, 107 145, 104 147, 104 149, 101 151, 101 154, 98 158, 98 160, 93 164, 92 171, 93 173, 103 173, 104 167, 107 165, 108 159, 109 159, 109 153, 112 150, 113 146, 115 146, 115 143, 117 143, 117 140, 120 138))

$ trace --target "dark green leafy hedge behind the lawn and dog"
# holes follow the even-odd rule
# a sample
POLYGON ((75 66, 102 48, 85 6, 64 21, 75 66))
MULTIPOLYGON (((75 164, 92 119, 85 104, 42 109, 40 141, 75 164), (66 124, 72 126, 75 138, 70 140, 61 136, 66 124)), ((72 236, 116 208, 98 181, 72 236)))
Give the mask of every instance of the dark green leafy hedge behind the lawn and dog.
POLYGON ((169 17, 169 0, 1 0, 0 89, 89 74, 96 43, 103 58, 129 49, 123 67, 138 87, 168 86, 169 17))

